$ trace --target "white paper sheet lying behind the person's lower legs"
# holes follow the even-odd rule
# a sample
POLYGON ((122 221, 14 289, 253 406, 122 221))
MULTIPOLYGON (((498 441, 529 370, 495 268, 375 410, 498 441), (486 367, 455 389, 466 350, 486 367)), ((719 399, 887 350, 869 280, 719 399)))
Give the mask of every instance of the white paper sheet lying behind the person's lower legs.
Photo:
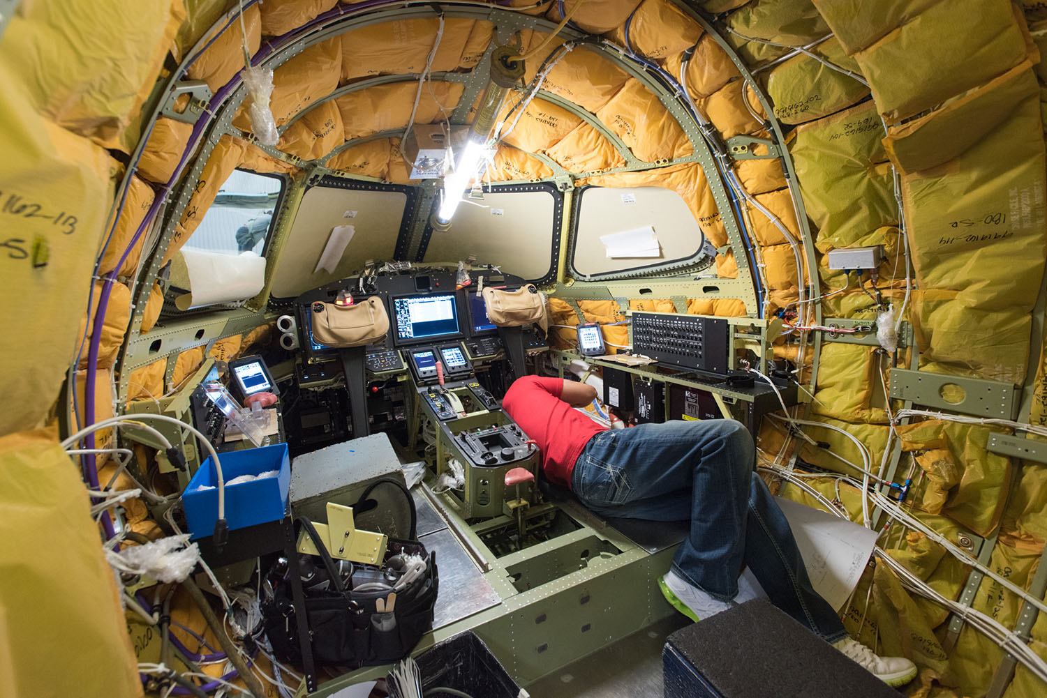
POLYGON ((790 499, 775 499, 793 528, 811 585, 839 611, 865 571, 876 532, 790 499))

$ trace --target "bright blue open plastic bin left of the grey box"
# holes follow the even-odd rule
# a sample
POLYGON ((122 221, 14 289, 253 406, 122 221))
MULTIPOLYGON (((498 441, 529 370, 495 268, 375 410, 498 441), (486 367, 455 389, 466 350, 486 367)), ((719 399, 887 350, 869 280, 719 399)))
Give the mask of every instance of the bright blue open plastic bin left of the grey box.
MULTIPOLYGON (((229 451, 219 456, 225 481, 241 475, 279 470, 275 477, 225 486, 225 520, 229 531, 267 521, 279 521, 287 510, 291 485, 291 458, 287 444, 229 451)), ((182 495, 190 539, 210 536, 218 520, 218 476, 210 457, 203 461, 182 495), (215 489, 200 490, 200 487, 215 489)))

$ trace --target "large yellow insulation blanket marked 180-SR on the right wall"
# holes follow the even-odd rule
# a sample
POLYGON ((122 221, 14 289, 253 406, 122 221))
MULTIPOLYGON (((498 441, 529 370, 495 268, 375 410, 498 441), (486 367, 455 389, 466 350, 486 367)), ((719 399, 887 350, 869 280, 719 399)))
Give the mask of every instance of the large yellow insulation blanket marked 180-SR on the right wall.
POLYGON ((903 177, 925 367, 1021 384, 1047 254, 1040 105, 949 165, 903 177))

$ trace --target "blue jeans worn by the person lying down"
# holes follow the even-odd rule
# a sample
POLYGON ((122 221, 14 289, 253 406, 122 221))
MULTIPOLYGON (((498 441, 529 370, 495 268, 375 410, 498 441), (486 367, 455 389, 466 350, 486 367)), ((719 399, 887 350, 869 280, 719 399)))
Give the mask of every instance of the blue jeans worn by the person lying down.
POLYGON ((682 521, 690 535, 672 569, 720 601, 738 593, 749 565, 775 606, 828 641, 847 631, 810 585, 785 515, 755 472, 740 422, 642 424, 594 436, 575 463, 572 489, 611 517, 682 521))

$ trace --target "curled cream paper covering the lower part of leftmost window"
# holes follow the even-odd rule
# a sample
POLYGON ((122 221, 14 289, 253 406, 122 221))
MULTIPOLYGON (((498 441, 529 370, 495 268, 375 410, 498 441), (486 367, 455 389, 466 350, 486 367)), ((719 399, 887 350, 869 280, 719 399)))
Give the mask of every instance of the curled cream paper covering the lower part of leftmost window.
POLYGON ((178 310, 245 300, 265 286, 265 257, 183 247, 171 263, 171 284, 188 290, 175 298, 178 310))

